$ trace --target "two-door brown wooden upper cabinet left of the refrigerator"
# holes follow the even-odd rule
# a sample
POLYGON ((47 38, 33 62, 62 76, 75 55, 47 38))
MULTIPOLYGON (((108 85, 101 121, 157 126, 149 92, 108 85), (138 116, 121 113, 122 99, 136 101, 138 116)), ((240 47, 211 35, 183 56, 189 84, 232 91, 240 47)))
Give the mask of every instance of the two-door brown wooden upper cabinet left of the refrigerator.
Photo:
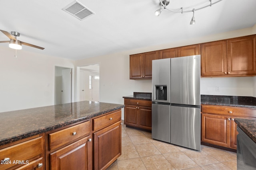
POLYGON ((152 79, 152 60, 158 51, 130 55, 130 79, 152 79))

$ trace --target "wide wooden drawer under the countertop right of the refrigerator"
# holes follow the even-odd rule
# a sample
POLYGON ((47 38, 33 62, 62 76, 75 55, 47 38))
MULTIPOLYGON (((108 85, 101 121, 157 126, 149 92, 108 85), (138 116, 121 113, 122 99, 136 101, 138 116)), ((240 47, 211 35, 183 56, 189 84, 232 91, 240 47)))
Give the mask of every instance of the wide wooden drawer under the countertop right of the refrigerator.
POLYGON ((228 116, 256 117, 256 109, 246 107, 202 105, 201 111, 228 116))

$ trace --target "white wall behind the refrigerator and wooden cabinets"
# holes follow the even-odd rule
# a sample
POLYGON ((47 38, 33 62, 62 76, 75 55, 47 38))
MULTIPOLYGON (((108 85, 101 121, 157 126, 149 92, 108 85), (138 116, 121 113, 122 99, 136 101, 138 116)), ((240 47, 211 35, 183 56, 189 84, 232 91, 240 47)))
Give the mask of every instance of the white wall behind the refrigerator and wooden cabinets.
MULTIPOLYGON (((209 35, 206 37, 198 37, 196 39, 187 39, 185 41, 178 41, 175 43, 163 44, 154 47, 145 47, 140 49, 133 49, 130 51, 123 51, 120 53, 113 53, 99 57, 82 59, 76 61, 76 66, 86 64, 100 63, 100 102, 110 102, 116 104, 124 104, 123 96, 132 95, 133 92, 152 92, 151 80, 130 80, 129 79, 129 55, 143 53, 148 51, 167 49, 172 47, 179 47, 183 45, 191 45, 196 43, 203 43, 209 41, 216 41, 220 39, 228 39, 233 37, 240 37, 244 35, 256 34, 256 26, 220 33, 216 35, 209 35)), ((230 95, 230 96, 256 96, 253 94, 256 80, 250 78, 205 78, 202 82, 202 94, 209 95, 230 95), (208 80, 211 84, 208 83, 208 80), (213 83, 214 82, 214 83, 213 83), (236 84, 238 83, 238 84, 236 84), (220 92, 216 93, 215 86, 220 86, 220 92)), ((122 110, 122 119, 124 119, 124 112, 122 110)))

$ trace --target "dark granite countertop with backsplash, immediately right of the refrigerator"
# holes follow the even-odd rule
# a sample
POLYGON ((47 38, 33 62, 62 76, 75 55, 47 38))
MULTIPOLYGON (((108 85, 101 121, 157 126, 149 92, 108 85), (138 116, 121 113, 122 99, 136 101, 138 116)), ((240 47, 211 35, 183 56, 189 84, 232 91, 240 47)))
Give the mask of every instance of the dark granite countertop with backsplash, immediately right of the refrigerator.
POLYGON ((256 108, 256 98, 246 96, 201 95, 201 104, 256 108))

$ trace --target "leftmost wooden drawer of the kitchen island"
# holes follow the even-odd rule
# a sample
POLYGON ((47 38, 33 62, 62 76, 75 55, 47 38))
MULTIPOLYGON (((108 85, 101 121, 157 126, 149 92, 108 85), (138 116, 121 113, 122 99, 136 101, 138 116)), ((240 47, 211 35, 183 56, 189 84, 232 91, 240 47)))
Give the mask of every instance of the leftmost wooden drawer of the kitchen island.
MULTIPOLYGON (((12 166, 17 165, 16 161, 21 161, 20 164, 26 164, 27 160, 43 154, 43 137, 37 137, 29 141, 25 141, 11 147, 7 147, 0 150, 0 169, 4 170, 12 166), (8 159, 7 162, 3 162, 4 159, 8 159), (15 161, 15 162, 14 162, 15 161), (24 162, 22 162, 24 161, 24 162)), ((39 156, 38 156, 39 157, 39 156)))

